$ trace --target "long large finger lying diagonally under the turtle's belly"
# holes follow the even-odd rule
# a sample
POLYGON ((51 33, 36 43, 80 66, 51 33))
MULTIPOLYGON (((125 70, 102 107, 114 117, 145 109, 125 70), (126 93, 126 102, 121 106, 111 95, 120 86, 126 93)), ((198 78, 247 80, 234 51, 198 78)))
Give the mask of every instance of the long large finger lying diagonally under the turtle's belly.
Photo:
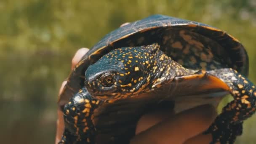
POLYGON ((131 143, 182 144, 187 139, 205 131, 215 117, 216 111, 212 106, 195 107, 139 133, 131 143))

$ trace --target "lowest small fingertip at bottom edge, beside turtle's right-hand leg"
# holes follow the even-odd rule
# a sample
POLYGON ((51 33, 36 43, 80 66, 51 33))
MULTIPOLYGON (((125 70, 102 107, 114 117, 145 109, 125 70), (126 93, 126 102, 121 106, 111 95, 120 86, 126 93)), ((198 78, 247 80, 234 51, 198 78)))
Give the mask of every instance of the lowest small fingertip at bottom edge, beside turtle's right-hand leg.
POLYGON ((195 137, 188 139, 186 142, 184 142, 184 144, 210 144, 211 141, 212 141, 211 134, 205 135, 201 133, 195 137))

